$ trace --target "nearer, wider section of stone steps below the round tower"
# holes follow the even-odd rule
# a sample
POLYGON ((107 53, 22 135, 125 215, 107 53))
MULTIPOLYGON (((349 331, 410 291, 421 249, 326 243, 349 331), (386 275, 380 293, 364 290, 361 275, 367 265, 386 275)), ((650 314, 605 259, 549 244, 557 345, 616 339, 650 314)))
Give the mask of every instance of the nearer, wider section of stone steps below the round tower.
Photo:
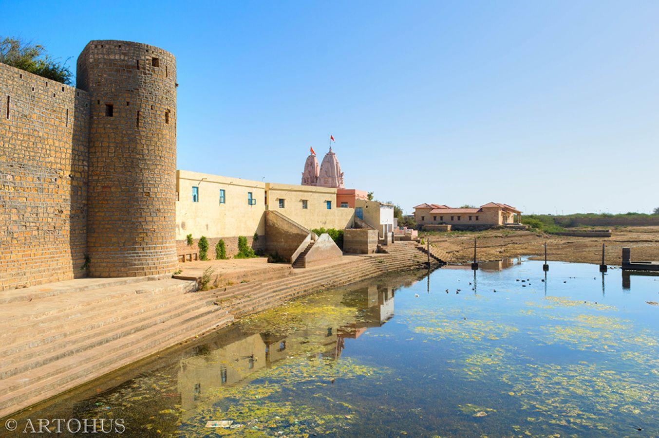
MULTIPOLYGON (((93 279, 91 279, 93 280, 93 279)), ((233 321, 175 279, 74 288, 3 304, 0 417, 233 321)))

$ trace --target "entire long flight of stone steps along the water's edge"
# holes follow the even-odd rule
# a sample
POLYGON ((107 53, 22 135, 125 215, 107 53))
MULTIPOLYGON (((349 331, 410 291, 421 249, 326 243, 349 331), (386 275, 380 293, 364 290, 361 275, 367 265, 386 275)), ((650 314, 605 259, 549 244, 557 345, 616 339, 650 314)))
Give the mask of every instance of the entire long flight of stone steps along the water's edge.
POLYGON ((0 418, 236 318, 426 261, 415 242, 396 242, 382 254, 204 292, 172 278, 13 291, 0 321, 0 418))

